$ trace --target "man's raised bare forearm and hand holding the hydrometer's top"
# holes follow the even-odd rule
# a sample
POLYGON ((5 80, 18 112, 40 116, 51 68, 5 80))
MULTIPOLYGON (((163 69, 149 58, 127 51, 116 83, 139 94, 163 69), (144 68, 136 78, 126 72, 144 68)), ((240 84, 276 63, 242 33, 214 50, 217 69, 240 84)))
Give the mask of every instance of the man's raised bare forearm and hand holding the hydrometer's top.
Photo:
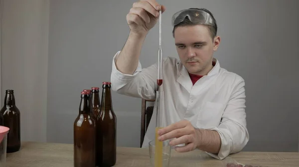
POLYGON ((133 3, 127 14, 130 34, 127 42, 116 59, 116 68, 124 74, 133 74, 138 66, 138 60, 144 40, 149 30, 156 24, 159 10, 165 7, 155 0, 140 0, 133 3))

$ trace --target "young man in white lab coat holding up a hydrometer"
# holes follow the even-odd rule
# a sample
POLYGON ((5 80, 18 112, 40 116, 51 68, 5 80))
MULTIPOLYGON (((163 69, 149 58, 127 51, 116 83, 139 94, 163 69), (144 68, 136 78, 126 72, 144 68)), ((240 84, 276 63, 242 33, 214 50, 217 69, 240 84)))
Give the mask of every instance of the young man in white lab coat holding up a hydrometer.
MULTIPOLYGON (((113 58, 112 89, 120 94, 155 99, 157 64, 142 68, 139 56, 149 30, 165 11, 155 0, 135 2, 127 15, 128 40, 113 58)), ((200 149, 222 160, 241 151, 249 140, 246 128, 245 83, 213 58, 220 44, 217 24, 206 9, 185 9, 172 17, 179 60, 163 60, 164 110, 159 140, 170 139, 177 152, 200 149)), ((143 147, 155 138, 152 114, 143 147)))

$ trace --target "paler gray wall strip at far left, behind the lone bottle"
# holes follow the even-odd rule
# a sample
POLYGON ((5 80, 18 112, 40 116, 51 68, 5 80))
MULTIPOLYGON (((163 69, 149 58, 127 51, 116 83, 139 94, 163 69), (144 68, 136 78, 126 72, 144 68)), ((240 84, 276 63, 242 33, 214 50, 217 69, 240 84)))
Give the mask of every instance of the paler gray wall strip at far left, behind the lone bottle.
POLYGON ((0 2, 1 97, 6 89, 14 90, 21 140, 45 142, 49 0, 0 2))

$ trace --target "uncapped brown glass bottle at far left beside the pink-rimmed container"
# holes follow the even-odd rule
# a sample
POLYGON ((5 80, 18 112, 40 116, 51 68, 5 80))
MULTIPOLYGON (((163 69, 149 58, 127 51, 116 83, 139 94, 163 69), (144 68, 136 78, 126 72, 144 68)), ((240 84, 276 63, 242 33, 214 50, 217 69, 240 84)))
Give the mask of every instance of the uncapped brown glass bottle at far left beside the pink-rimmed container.
POLYGON ((20 111, 15 106, 13 90, 5 91, 4 105, 0 112, 3 114, 3 126, 9 128, 6 152, 19 151, 21 147, 20 111))

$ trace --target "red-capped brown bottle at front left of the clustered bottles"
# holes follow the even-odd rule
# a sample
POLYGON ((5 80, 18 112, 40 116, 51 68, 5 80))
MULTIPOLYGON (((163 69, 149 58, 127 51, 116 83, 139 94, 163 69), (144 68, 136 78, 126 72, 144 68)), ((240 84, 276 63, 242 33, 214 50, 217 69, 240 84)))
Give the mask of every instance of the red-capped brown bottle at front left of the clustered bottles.
POLYGON ((81 92, 79 114, 74 122, 74 167, 95 167, 96 120, 92 116, 90 92, 81 92))

